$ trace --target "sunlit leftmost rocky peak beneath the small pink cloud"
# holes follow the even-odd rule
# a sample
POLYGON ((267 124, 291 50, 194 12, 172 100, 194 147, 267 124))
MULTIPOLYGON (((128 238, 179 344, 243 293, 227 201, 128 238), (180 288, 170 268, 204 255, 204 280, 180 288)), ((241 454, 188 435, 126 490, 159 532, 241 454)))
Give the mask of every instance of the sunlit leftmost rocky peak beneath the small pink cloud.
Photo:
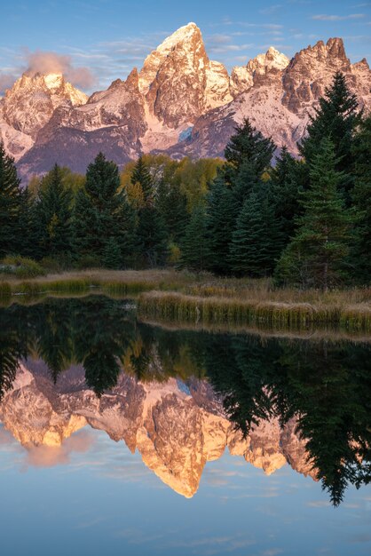
POLYGON ((88 97, 60 74, 26 72, 0 99, 0 139, 16 160, 31 148, 37 133, 58 107, 84 104, 88 97))

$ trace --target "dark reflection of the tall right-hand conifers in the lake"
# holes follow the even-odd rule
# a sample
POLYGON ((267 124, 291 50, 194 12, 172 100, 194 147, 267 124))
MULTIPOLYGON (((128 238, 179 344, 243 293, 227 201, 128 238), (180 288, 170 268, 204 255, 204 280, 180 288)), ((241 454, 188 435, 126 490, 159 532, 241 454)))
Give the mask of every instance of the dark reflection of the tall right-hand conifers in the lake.
POLYGON ((333 504, 342 501, 349 482, 359 487, 370 481, 370 346, 225 337, 207 353, 208 376, 244 433, 262 418, 278 417, 282 425, 298 418, 333 504))

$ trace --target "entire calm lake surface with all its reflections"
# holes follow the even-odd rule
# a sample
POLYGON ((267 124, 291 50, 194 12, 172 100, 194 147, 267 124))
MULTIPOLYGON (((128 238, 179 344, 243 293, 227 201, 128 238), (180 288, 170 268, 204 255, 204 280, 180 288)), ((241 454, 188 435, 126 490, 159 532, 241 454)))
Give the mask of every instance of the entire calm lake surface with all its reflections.
POLYGON ((4 556, 371 554, 371 345, 0 308, 4 556))

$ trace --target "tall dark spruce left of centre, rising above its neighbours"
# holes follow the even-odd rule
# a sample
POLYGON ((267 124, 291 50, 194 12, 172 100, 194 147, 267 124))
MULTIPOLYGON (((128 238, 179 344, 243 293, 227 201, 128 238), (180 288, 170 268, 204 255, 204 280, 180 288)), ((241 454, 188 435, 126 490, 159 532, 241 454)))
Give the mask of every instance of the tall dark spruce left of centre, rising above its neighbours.
POLYGON ((113 238, 121 252, 121 267, 128 265, 134 250, 135 214, 121 188, 117 165, 102 153, 89 164, 84 187, 76 194, 74 222, 78 255, 103 263, 113 238))

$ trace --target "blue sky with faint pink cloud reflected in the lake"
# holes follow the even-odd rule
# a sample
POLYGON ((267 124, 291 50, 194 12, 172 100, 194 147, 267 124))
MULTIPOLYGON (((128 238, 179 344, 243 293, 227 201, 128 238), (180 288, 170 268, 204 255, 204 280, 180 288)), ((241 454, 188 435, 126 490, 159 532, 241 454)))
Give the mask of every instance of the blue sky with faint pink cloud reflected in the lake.
POLYGON ((371 553, 371 488, 348 488, 334 509, 288 465, 266 477, 228 451, 192 499, 88 428, 31 452, 0 428, 0 472, 5 556, 371 553))

